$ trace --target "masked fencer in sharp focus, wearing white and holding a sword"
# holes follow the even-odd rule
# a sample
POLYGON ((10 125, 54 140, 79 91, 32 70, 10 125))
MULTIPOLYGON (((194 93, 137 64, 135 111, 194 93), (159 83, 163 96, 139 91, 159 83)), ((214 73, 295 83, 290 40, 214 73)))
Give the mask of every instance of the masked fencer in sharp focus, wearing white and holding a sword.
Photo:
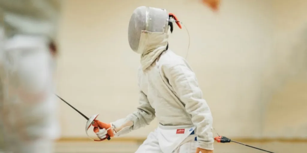
POLYGON ((165 9, 141 6, 134 10, 128 40, 131 49, 141 54, 139 106, 110 124, 98 121, 103 129, 94 128, 94 132, 100 139, 121 136, 157 117, 157 129, 136 153, 212 153, 212 114, 187 61, 169 50, 171 24, 165 9))

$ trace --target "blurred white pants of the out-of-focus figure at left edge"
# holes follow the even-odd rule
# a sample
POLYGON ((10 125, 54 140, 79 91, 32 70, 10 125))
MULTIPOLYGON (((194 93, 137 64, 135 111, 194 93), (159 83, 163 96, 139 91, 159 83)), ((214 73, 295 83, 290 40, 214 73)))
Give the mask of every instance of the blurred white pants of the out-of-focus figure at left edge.
POLYGON ((0 50, 5 152, 52 153, 59 135, 53 58, 44 37, 15 35, 0 50))

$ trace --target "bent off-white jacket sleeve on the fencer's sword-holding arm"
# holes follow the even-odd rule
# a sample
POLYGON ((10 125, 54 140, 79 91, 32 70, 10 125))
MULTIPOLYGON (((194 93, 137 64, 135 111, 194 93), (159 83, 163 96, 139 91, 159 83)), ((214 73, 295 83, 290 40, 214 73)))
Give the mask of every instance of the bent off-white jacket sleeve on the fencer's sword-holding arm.
POLYGON ((133 122, 133 125, 130 126, 130 128, 127 127, 122 129, 121 131, 117 131, 118 134, 115 135, 120 136, 122 134, 126 134, 130 131, 149 125, 155 117, 155 110, 148 102, 147 96, 142 91, 140 91, 139 106, 137 110, 129 114, 126 118, 119 119, 115 122, 112 122, 111 124, 114 126, 114 128, 118 128, 129 121, 133 122))

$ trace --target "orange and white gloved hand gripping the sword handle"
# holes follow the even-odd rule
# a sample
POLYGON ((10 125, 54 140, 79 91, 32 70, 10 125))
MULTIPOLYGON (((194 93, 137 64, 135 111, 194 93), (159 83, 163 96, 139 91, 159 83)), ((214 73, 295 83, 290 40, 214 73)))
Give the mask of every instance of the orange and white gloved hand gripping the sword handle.
POLYGON ((95 121, 94 132, 96 133, 96 135, 99 137, 100 140, 105 140, 108 137, 114 137, 114 132, 111 124, 103 123, 98 120, 94 121, 95 121), (98 128, 96 124, 98 124, 100 128, 98 128))

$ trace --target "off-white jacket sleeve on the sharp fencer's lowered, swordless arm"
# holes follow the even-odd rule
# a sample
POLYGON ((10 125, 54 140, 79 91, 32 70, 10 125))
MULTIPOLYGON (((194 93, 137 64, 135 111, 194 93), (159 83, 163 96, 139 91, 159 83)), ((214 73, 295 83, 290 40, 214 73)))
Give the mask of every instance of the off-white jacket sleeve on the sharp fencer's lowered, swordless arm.
POLYGON ((192 116, 192 122, 197 129, 198 147, 213 150, 212 114, 202 97, 195 73, 185 62, 164 65, 162 71, 186 111, 192 116))

